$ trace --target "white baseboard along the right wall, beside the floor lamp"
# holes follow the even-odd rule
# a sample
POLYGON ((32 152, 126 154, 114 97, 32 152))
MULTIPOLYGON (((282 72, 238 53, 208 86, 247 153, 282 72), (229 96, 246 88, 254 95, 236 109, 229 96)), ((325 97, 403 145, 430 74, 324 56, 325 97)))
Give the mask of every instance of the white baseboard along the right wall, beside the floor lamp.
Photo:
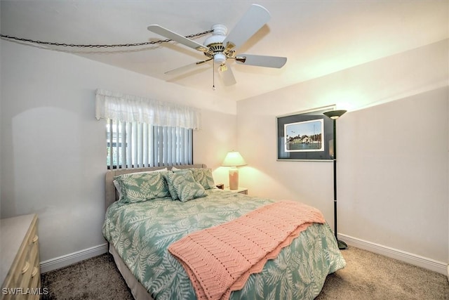
POLYGON ((397 259, 398 261, 404 261, 414 266, 426 268, 427 270, 433 270, 434 272, 441 273, 443 275, 448 275, 449 280, 449 266, 442 261, 435 261, 434 259, 428 259, 427 257, 383 246, 382 244, 375 244, 366 240, 360 240, 349 235, 338 234, 338 238, 339 240, 342 240, 343 242, 346 242, 354 247, 365 249, 377 254, 382 254, 384 256, 391 257, 392 259, 397 259))

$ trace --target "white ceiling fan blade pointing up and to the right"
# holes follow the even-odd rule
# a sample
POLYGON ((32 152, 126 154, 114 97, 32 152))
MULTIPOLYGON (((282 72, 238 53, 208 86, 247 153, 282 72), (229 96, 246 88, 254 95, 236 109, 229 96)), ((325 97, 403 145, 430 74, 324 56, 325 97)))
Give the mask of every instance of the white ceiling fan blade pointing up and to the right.
POLYGON ((250 37, 253 37, 270 18, 271 16, 266 8, 258 4, 251 5, 234 29, 229 32, 223 41, 223 46, 226 48, 239 48, 250 37), (229 45, 227 44, 228 42, 230 43, 229 45))

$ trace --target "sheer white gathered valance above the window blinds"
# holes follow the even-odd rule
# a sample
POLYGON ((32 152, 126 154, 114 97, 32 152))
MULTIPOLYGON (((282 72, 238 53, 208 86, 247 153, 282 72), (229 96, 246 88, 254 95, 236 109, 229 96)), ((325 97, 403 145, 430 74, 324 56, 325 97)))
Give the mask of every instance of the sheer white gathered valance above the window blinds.
POLYGON ((95 117, 156 126, 201 128, 201 114, 194 107, 98 89, 95 117))

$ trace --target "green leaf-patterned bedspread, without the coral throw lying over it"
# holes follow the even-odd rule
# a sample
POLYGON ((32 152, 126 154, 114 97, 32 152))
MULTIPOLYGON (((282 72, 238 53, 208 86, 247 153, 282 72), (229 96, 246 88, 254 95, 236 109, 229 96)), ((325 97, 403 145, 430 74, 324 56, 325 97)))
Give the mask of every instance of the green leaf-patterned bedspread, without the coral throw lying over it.
MULTIPOLYGON (((196 299, 187 273, 167 250, 171 243, 274 202, 218 189, 207 193, 184 203, 165 197, 107 209, 103 235, 155 300, 196 299)), ((329 226, 314 224, 231 299, 314 299, 326 276, 345 264, 329 226)))

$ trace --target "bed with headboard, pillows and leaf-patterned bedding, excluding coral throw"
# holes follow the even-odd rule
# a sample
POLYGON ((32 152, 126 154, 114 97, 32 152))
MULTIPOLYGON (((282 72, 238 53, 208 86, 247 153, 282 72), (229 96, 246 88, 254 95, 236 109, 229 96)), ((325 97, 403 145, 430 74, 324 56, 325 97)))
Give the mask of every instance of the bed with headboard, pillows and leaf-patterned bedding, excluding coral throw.
MULTIPOLYGON (((173 170, 156 167, 107 171, 107 211, 102 232, 135 299, 197 299, 196 282, 189 278, 192 270, 187 271, 185 261, 175 255, 174 246, 205 228, 220 228, 272 205, 281 206, 274 200, 216 188, 211 177, 211 170, 204 164, 176 166, 173 170), (142 181, 159 178, 154 179, 157 188, 145 189, 140 184, 136 191, 135 181, 130 189, 123 188, 128 178, 135 180, 138 176, 142 181), (192 178, 194 183, 189 181, 192 178), (191 185, 201 185, 203 190, 192 192, 195 188, 189 188, 191 185), (161 193, 161 189, 168 189, 168 193, 161 193), (151 190, 152 196, 145 197, 152 199, 140 201, 142 190, 151 190), (194 193, 199 194, 192 197, 194 193), (173 200, 172 194, 179 199, 173 200)), ((314 299, 326 276, 346 263, 325 221, 308 223, 304 228, 273 259, 263 263, 260 272, 247 275, 241 289, 228 291, 229 299, 314 299)), ((182 246, 180 249, 182 252, 182 246)))

